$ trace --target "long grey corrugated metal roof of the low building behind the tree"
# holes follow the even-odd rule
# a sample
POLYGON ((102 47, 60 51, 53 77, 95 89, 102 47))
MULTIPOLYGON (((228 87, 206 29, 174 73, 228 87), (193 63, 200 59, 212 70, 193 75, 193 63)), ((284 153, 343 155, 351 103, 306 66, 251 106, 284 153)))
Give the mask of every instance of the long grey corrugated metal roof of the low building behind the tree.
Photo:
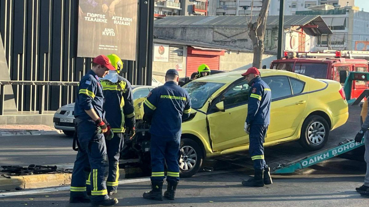
MULTIPOLYGON (((258 16, 252 16, 252 21, 256 21, 258 16)), ((171 27, 171 26, 196 26, 196 25, 247 25, 250 21, 250 16, 167 16, 165 18, 155 20, 156 27, 171 27)), ((269 15, 267 25, 279 25, 279 15, 269 15)), ((318 25, 318 31, 321 34, 332 34, 327 24, 323 21, 320 15, 289 15, 284 16, 285 26, 304 26, 318 25)))

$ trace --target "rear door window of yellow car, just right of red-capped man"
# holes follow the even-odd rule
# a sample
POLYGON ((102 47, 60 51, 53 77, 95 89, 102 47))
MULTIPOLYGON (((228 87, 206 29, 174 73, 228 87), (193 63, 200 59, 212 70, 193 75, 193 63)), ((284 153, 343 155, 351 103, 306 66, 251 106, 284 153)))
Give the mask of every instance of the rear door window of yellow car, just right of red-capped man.
POLYGON ((290 81, 286 76, 271 76, 262 78, 272 90, 272 99, 282 98, 292 95, 290 81))

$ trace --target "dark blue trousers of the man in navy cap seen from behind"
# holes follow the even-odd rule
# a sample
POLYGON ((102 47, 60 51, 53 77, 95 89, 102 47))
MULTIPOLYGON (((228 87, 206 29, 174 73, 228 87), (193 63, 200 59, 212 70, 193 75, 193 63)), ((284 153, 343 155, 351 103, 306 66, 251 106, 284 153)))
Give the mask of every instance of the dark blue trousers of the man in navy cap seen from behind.
POLYGON ((165 163, 168 168, 166 181, 179 181, 179 144, 180 137, 151 135, 151 181, 162 181, 165 178, 165 163))

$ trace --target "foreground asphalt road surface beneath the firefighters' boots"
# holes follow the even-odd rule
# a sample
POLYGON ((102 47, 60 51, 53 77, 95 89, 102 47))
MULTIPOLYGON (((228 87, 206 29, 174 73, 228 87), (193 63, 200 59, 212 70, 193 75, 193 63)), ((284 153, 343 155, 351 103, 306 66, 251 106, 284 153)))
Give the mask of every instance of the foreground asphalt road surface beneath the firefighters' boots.
MULTIPOLYGON (((206 172, 182 179, 176 200, 145 200, 149 179, 121 180, 115 206, 137 207, 357 207, 367 206, 368 198, 355 192, 362 185, 363 175, 289 175, 273 176, 273 184, 265 187, 245 187, 244 172, 206 172)), ((165 182, 166 183, 166 182, 165 182)), ((166 186, 163 186, 163 192, 166 186)), ((0 206, 60 206, 87 207, 89 204, 69 204, 68 187, 61 191, 6 197, 0 193, 0 206)), ((27 192, 27 191, 24 191, 27 192)), ((41 192, 41 191, 38 191, 41 192)), ((21 193, 21 192, 20 192, 21 193)))

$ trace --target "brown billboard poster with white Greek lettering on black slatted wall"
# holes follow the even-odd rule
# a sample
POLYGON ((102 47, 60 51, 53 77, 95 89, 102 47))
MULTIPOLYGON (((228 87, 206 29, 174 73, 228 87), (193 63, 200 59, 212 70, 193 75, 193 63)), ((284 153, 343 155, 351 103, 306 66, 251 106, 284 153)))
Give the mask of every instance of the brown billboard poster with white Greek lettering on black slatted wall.
POLYGON ((136 59, 137 0, 79 0, 78 57, 136 59))

